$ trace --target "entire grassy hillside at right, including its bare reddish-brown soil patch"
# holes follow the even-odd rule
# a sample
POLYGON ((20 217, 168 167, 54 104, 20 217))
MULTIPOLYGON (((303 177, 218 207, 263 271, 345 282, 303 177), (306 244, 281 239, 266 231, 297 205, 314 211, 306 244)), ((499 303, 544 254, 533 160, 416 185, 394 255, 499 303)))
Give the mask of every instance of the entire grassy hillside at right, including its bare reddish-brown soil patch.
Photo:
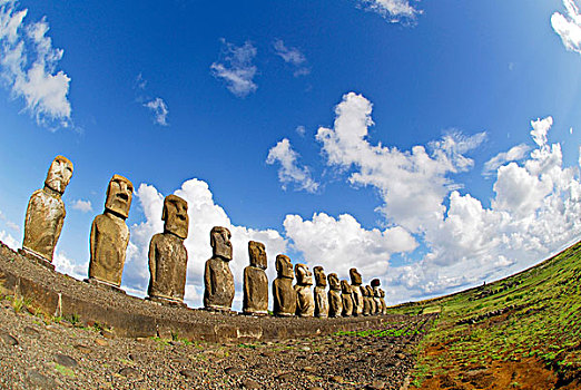
POLYGON ((391 312, 440 312, 412 388, 581 388, 581 242, 513 276, 391 312))

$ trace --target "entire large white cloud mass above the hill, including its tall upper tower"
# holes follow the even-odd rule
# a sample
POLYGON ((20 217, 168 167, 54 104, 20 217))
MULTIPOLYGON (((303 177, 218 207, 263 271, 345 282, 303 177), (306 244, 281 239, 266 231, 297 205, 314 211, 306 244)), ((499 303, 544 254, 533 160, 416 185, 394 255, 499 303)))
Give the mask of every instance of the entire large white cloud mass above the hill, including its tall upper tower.
POLYGON ((473 168, 466 154, 484 133, 450 133, 400 150, 370 143, 372 104, 363 96, 345 95, 335 113, 333 128, 316 135, 326 163, 349 183, 378 189, 391 227, 368 231, 348 214, 288 215, 286 237, 309 265, 343 276, 357 266, 364 277, 382 279, 390 302, 401 302, 505 276, 579 240, 579 167, 563 167, 561 146, 549 144, 551 117, 531 121, 534 147, 516 145, 485 164, 495 194, 485 207, 451 178, 473 168), (411 252, 404 257, 415 262, 390 264, 394 253, 411 252))

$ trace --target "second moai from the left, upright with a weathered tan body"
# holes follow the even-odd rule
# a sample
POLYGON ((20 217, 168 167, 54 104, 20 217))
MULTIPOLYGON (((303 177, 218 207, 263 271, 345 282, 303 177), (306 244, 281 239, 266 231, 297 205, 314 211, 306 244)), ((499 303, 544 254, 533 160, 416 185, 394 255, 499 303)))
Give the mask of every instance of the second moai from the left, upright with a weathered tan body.
POLYGON ((129 216, 134 185, 114 175, 107 187, 105 212, 92 221, 90 235, 89 281, 114 287, 121 285, 125 254, 129 244, 129 216))

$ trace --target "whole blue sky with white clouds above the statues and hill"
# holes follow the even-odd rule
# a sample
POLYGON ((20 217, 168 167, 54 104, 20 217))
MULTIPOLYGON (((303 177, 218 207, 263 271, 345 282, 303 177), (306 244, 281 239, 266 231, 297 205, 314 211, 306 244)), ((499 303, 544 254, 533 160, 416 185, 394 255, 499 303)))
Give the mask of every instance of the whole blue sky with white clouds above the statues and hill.
POLYGON ((270 265, 380 276, 392 303, 581 235, 573 0, 0 4, 0 240, 20 246, 30 194, 67 156, 61 272, 86 275, 116 173, 136 187, 124 287, 147 287, 176 193, 193 306, 214 225, 233 231, 238 291, 258 240, 270 265))

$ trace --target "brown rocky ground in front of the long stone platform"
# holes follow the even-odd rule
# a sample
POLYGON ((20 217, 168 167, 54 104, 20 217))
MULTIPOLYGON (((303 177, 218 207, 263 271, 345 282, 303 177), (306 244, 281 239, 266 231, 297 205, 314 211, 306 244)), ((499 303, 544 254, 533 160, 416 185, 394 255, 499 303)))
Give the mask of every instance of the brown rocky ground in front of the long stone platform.
POLYGON ((401 389, 430 316, 381 330, 254 344, 118 338, 0 303, 0 388, 401 389))

